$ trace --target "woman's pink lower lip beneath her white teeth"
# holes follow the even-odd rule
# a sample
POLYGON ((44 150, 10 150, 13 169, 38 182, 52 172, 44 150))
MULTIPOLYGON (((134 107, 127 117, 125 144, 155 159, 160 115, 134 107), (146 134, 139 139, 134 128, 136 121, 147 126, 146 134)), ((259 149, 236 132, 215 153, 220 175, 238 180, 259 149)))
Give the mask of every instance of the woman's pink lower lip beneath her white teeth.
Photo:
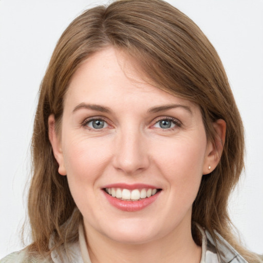
POLYGON ((105 191, 103 191, 105 197, 109 201, 109 203, 116 208, 126 211, 126 212, 136 212, 139 210, 142 210, 146 208, 148 205, 153 203, 159 196, 161 191, 157 192, 155 195, 151 197, 144 198, 142 200, 138 201, 124 201, 120 200, 118 198, 112 197, 111 195, 107 194, 105 191))

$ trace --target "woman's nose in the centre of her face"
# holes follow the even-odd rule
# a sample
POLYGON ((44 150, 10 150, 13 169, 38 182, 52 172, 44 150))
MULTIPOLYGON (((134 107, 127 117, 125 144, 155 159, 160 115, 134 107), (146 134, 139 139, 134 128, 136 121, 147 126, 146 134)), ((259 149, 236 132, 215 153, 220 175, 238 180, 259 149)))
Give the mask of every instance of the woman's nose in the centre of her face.
POLYGON ((145 171, 150 163, 146 141, 139 130, 123 131, 116 141, 114 167, 127 175, 145 171))

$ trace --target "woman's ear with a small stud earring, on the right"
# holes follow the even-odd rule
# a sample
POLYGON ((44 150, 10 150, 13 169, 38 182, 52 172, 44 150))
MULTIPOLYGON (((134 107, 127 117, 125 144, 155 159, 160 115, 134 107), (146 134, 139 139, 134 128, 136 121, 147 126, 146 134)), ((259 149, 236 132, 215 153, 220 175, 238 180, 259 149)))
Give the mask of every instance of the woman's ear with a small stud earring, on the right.
POLYGON ((203 175, 210 174, 220 161, 223 152, 224 141, 226 139, 227 124, 224 120, 219 119, 213 123, 216 137, 214 142, 208 142, 206 146, 203 175))

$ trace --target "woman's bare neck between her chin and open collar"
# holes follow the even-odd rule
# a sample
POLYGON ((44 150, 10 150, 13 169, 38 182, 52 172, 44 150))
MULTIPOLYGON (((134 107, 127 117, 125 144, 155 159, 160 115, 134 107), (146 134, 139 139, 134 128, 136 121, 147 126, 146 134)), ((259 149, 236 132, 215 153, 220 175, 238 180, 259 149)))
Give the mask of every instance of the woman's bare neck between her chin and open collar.
POLYGON ((92 263, 199 263, 201 259, 201 247, 192 238, 191 222, 147 243, 117 242, 91 228, 86 238, 92 263))

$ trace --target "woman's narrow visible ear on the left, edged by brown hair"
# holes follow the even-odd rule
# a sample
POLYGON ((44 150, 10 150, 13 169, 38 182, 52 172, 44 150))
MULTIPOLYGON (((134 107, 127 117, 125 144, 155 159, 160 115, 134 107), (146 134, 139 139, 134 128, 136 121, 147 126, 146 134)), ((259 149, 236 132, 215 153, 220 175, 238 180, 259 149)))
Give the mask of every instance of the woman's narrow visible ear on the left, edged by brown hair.
POLYGON ((66 175, 67 173, 66 168, 64 166, 61 138, 59 138, 59 136, 55 132, 55 117, 53 114, 48 117, 48 137, 52 145, 54 157, 59 164, 59 173, 61 175, 66 175))

